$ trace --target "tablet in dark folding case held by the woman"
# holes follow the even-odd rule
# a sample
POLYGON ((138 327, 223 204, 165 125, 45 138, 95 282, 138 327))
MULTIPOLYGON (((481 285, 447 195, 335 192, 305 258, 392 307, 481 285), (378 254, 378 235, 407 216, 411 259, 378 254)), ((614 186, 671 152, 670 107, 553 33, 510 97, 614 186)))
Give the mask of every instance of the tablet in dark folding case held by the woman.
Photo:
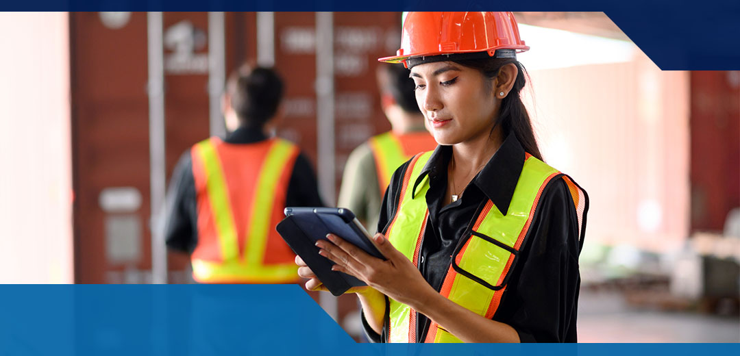
POLYGON ((386 259, 372 243, 365 227, 357 221, 349 209, 287 207, 285 215, 286 218, 277 224, 277 232, 293 252, 303 258, 332 295, 339 296, 353 286, 366 284, 346 273, 332 271, 334 262, 319 255, 319 248, 315 244, 318 240, 326 240, 326 234, 337 235, 371 256, 386 259))

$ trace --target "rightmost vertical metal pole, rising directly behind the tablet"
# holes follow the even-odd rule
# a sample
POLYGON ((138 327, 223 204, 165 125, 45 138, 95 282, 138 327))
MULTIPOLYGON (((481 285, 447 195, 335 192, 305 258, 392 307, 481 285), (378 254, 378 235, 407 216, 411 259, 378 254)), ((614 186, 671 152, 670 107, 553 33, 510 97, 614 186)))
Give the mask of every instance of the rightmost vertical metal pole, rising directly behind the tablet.
MULTIPOLYGON (((329 205, 336 201, 334 169, 334 18, 332 13, 316 13, 316 115, 318 181, 329 205)), ((337 320, 337 298, 321 293, 319 303, 337 320)))

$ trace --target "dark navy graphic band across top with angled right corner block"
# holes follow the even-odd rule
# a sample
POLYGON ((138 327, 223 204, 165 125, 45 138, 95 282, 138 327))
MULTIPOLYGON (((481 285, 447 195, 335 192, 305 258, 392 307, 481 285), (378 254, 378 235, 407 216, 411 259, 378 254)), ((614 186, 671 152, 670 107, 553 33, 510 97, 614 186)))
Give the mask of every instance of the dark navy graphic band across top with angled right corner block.
POLYGON ((604 11, 662 70, 740 69, 740 0, 34 0, 0 10, 604 11))

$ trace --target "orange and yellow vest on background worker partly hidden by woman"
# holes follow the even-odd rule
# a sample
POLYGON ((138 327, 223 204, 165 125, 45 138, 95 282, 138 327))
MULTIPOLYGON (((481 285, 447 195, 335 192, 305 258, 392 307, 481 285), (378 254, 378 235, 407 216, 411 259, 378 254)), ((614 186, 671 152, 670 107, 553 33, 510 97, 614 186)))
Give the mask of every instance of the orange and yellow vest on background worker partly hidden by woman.
POLYGON ((429 132, 408 132, 397 135, 392 131, 373 136, 369 141, 375 158, 380 195, 386 194, 391 176, 398 167, 419 152, 434 150, 437 141, 429 132))

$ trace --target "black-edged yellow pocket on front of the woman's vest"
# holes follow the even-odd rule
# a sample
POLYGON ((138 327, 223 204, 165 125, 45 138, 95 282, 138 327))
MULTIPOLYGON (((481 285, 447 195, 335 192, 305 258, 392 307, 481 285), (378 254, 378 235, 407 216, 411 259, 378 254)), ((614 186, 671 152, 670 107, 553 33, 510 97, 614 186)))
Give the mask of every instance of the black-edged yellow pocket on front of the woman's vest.
POLYGON ((502 289, 518 252, 511 246, 477 231, 452 255, 452 268, 488 289, 502 289))

